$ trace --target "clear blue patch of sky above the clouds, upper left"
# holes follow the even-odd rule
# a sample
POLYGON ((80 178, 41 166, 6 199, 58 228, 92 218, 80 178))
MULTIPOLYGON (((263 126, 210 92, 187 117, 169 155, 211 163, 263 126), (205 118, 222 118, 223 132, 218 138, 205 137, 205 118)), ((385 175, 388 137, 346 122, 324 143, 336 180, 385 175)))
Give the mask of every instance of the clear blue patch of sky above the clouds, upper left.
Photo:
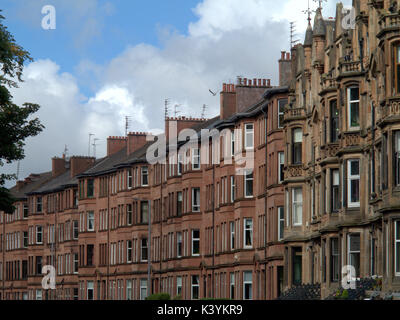
MULTIPOLYGON (((71 6, 64 3, 58 6, 60 1, 57 0, 2 0, 1 9, 10 32, 34 60, 51 59, 57 61, 61 72, 76 74, 76 66, 81 60, 102 65, 127 46, 147 43, 162 47, 160 32, 163 29, 187 34, 189 22, 196 18, 192 9, 199 3, 198 0, 99 0, 96 7, 104 9, 78 16, 72 25, 71 15, 76 15, 79 3, 84 1, 70 0, 74 3, 71 6), (28 1, 31 2, 29 12, 26 9, 28 1), (56 30, 41 27, 44 4, 56 8, 56 30), (75 40, 79 24, 84 24, 92 15, 97 19, 100 34, 87 37, 84 45, 78 47, 75 40)), ((91 93, 84 82, 80 85, 87 95, 91 93)))

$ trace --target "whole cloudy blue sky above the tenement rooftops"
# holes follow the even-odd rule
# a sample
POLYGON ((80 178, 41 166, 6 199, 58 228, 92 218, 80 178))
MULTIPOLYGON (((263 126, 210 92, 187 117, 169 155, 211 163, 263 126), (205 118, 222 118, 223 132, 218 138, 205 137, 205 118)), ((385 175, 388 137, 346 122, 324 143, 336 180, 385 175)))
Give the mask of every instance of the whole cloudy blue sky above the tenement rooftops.
MULTIPOLYGON (((176 109, 200 117, 205 104, 211 118, 219 95, 209 89, 237 76, 278 85, 289 22, 303 41, 307 7, 308 0, 2 0, 3 23, 34 59, 11 90, 14 102, 38 103, 45 125, 26 141, 19 179, 51 170, 66 146, 68 156, 88 155, 89 133, 97 158, 105 156, 107 137, 125 134, 125 116, 129 131, 161 133, 165 99, 170 116, 176 109), (56 10, 55 29, 42 28, 45 5, 56 10)), ((324 2, 324 17, 335 7, 324 2)), ((17 164, 0 170, 16 173, 17 164)))

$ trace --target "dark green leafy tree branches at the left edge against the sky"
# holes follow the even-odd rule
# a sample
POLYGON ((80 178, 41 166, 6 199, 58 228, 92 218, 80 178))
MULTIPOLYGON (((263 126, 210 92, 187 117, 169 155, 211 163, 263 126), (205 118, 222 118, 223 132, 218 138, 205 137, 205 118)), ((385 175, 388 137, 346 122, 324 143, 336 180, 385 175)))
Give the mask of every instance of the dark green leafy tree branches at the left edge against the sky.
MULTIPOLYGON (((18 88, 22 82, 25 61, 32 61, 28 51, 16 42, 3 25, 4 17, 0 10, 0 167, 25 157, 25 139, 38 135, 44 126, 38 118, 31 116, 40 108, 33 103, 21 107, 12 102, 9 88, 18 88)), ((0 211, 12 213, 14 199, 4 187, 6 180, 16 179, 13 174, 0 174, 0 211)))

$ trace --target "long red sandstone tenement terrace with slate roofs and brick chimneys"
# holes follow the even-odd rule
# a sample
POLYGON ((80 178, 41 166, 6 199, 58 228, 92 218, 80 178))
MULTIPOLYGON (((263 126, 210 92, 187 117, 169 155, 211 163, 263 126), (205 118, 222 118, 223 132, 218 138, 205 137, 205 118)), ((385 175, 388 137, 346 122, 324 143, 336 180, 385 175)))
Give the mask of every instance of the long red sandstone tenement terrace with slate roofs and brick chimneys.
POLYGON ((109 137, 102 159, 53 158, 19 181, 1 299, 277 298, 290 53, 279 73, 223 84, 218 117, 166 118, 163 135, 109 137))

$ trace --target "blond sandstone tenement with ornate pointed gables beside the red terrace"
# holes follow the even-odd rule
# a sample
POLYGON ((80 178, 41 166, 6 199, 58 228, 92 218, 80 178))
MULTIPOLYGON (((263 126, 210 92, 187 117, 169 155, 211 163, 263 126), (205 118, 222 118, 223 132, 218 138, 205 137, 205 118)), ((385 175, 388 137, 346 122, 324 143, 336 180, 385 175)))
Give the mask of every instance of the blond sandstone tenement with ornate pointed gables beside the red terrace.
POLYGON ((353 6, 354 21, 319 8, 292 49, 284 115, 284 282, 323 297, 346 266, 400 288, 400 7, 353 6))

